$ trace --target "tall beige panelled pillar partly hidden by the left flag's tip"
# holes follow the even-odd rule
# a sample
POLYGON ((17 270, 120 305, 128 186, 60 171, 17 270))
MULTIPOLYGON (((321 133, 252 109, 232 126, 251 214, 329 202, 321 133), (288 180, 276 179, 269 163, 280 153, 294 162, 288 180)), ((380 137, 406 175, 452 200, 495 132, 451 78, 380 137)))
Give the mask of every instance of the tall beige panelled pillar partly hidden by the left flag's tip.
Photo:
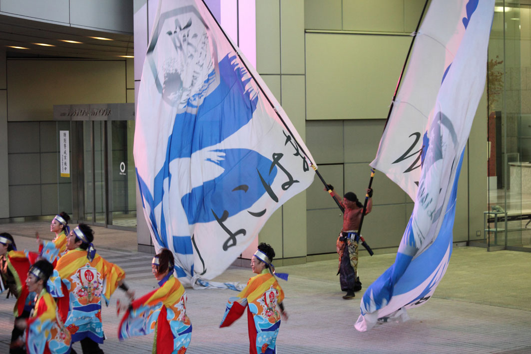
MULTIPOLYGON (((256 1, 256 69, 305 139, 304 1, 256 1)), ((305 261, 306 192, 271 217, 259 240, 275 248, 284 264, 305 261)))

